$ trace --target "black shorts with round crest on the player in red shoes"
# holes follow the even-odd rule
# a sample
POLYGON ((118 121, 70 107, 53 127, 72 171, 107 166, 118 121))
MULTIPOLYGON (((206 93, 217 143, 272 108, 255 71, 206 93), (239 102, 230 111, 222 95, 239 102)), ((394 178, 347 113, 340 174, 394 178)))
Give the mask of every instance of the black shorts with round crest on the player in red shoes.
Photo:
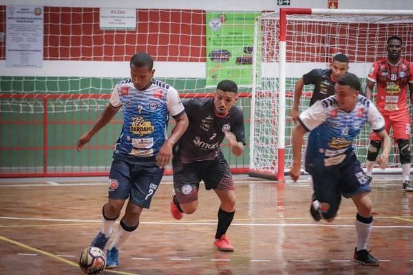
POLYGON ((235 185, 228 162, 220 153, 213 160, 182 163, 180 154, 176 153, 172 160, 173 188, 180 203, 198 200, 200 181, 205 189, 234 190, 235 185))

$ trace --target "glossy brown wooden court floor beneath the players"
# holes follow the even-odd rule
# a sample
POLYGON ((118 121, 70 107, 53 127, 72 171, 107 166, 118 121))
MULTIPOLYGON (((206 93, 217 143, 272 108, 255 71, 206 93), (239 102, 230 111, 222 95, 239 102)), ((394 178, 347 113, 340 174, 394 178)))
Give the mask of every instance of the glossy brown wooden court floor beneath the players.
MULTIPOLYGON (((379 267, 352 262, 355 207, 341 203, 333 223, 308 212, 305 179, 284 186, 236 176, 237 210, 227 232, 235 252, 212 247, 219 201, 201 185, 199 209, 182 221, 169 214, 171 178, 120 250, 120 267, 103 274, 413 274, 413 192, 401 178, 372 184, 370 239, 379 267)), ((0 274, 82 274, 78 254, 100 229, 105 178, 1 179, 0 274)), ((117 225, 116 225, 117 227, 117 225)))

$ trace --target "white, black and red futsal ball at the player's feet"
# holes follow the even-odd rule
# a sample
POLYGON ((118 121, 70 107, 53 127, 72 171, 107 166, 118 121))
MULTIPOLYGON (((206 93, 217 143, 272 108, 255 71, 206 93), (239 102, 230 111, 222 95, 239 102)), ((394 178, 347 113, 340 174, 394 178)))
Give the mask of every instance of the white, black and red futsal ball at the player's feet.
POLYGON ((106 255, 100 248, 85 248, 79 258, 79 267, 85 274, 99 274, 105 269, 106 255))

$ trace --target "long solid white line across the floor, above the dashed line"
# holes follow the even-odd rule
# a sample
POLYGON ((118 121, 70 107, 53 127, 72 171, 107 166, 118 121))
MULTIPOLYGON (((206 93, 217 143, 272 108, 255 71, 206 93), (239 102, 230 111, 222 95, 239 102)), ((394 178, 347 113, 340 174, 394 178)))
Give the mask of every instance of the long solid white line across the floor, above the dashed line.
MULTIPOLYGON (((27 220, 27 221, 67 221, 75 223, 101 223, 101 220, 83 220, 83 219, 43 219, 43 218, 19 218, 4 217, 0 219, 27 220)), ((303 218, 305 219, 305 218, 303 218)), ((215 221, 211 223, 197 222, 178 222, 178 221, 141 221, 142 224, 151 225, 212 225, 216 226, 215 221)), ((322 224, 322 223, 231 223, 231 226, 285 226, 285 227, 328 227, 328 228, 354 228, 355 225, 345 224, 322 224)), ((413 228, 413 225, 373 225, 373 228, 413 228)))

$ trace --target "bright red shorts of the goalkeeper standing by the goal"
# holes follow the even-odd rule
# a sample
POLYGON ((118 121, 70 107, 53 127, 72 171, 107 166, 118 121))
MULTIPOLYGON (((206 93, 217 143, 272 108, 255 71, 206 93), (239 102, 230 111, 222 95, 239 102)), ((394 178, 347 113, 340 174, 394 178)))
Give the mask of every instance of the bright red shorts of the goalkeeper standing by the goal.
MULTIPOLYGON (((383 115, 383 113, 382 113, 383 115)), ((390 135, 390 127, 393 129, 394 140, 410 140, 410 114, 407 109, 397 113, 384 114, 385 131, 390 135)), ((370 134, 370 140, 380 140, 374 131, 370 134)))

